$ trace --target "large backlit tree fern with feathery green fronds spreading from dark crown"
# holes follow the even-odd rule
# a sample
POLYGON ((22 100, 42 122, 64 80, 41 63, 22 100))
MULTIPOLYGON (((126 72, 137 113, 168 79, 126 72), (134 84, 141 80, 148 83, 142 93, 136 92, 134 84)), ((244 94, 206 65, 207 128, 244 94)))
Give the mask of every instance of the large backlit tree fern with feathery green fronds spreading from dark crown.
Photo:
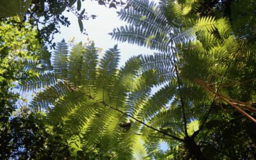
MULTIPOLYGON (((132 159, 132 147, 138 143, 134 140, 138 139, 148 157, 159 154, 161 141, 174 152, 170 157, 210 157, 207 136, 221 140, 215 134, 224 135, 222 125, 212 127, 212 122, 252 125, 220 97, 255 100, 255 92, 248 91, 255 89, 255 46, 234 35, 236 29, 227 19, 197 14, 200 1, 161 1, 157 6, 146 0, 131 0, 129 4, 131 8, 118 13, 129 25, 114 29, 112 37, 160 53, 132 57, 118 68, 117 46, 99 59, 94 44, 77 44, 68 54, 63 41, 52 61, 52 77, 57 83, 36 84, 44 90, 32 105, 48 105, 50 121, 63 123, 67 132, 81 136, 86 143, 99 144, 118 159, 132 159), (246 61, 241 61, 243 54, 248 55, 246 61), (232 90, 225 86, 230 80, 232 90), (61 89, 61 85, 65 87, 61 89), (152 93, 156 86, 161 89, 152 93), (50 91, 54 94, 47 101, 50 91)), ((225 131, 232 131, 230 126, 224 126, 225 131)), ((241 132, 236 131, 236 136, 241 132)), ((234 145, 237 152, 239 147, 234 145)))

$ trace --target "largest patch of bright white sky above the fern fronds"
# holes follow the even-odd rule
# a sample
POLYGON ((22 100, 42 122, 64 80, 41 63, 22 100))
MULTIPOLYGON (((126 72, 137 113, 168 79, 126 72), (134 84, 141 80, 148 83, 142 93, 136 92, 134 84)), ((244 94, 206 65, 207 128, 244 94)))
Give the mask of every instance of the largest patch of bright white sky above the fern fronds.
POLYGON ((108 33, 111 33, 114 28, 125 24, 117 17, 116 11, 120 10, 120 8, 117 10, 115 8, 107 8, 99 5, 97 1, 84 1, 81 10, 83 8, 85 8, 85 12, 88 15, 97 15, 96 19, 83 20, 88 36, 80 32, 77 17, 71 12, 65 12, 64 15, 68 17, 71 25, 68 28, 61 27, 61 33, 55 36, 55 42, 60 42, 63 38, 68 42, 73 36, 76 38, 76 42, 86 42, 87 38, 90 38, 95 42, 96 47, 101 47, 103 51, 118 44, 118 49, 121 52, 120 65, 124 65, 125 61, 133 55, 154 53, 154 51, 145 47, 111 40, 111 36, 108 33))

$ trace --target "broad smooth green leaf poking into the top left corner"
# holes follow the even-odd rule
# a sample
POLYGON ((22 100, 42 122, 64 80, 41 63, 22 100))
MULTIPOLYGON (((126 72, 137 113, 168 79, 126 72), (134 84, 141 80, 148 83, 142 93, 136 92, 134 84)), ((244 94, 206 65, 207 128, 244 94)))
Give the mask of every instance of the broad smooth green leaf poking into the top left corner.
POLYGON ((19 15, 20 20, 28 11, 32 0, 8 0, 0 1, 0 17, 12 17, 19 15))

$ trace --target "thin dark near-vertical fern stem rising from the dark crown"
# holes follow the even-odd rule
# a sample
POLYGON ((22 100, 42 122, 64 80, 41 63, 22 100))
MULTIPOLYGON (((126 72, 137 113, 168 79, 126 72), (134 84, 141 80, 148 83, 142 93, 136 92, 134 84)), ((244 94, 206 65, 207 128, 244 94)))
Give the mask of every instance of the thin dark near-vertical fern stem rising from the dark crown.
POLYGON ((177 81, 178 81, 178 87, 179 87, 179 97, 180 97, 180 103, 181 103, 181 108, 182 108, 182 116, 183 116, 183 120, 184 120, 184 132, 185 132, 185 136, 188 137, 188 131, 187 131, 187 123, 188 122, 187 122, 186 114, 185 114, 184 101, 182 99, 179 70, 178 70, 178 67, 177 67, 177 63, 176 63, 176 60, 175 60, 175 54, 174 54, 174 51, 173 51, 173 40, 172 40, 172 44, 171 44, 171 49, 172 49, 173 63, 174 63, 175 72, 176 72, 177 81))

